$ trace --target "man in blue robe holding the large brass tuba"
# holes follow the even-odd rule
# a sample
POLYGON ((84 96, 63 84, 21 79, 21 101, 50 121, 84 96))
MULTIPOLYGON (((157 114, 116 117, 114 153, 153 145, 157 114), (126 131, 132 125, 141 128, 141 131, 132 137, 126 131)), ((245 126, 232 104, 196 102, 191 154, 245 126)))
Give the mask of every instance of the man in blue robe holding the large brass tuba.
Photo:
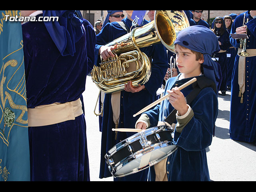
MULTIPOLYGON (((132 10, 126 11, 127 17, 122 20, 125 28, 118 22, 108 23, 96 36, 95 65, 100 65, 102 62, 101 58, 102 60, 106 60, 107 58, 113 57, 112 50, 116 49, 116 47, 104 46, 105 44, 124 36, 135 27, 140 27, 148 23, 148 21, 143 19, 142 24, 138 22, 139 25, 134 25, 132 19, 133 12, 132 10)), ((105 161, 104 155, 106 152, 120 141, 134 134, 132 132, 114 132, 112 128, 134 127, 138 117, 133 117, 133 114, 157 99, 156 91, 161 86, 168 67, 166 48, 161 43, 143 47, 140 50, 152 61, 151 75, 148 81, 135 87, 132 85, 131 80, 125 85, 124 90, 105 94, 102 120, 100 178, 112 176, 105 161)), ((147 178, 148 169, 122 178, 114 178, 114 181, 146 181, 147 178)))

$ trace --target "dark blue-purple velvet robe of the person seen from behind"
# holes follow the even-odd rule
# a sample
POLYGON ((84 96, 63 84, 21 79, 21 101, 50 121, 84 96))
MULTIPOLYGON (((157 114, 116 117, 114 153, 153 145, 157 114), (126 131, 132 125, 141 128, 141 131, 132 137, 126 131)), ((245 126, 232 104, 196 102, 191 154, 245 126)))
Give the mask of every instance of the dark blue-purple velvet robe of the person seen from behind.
MULTIPOLYGON (((27 22, 22 32, 28 108, 82 98, 94 65, 96 35, 91 24, 84 24, 74 56, 60 54, 43 22, 27 22)), ((84 114, 28 129, 32 181, 90 180, 84 114)))

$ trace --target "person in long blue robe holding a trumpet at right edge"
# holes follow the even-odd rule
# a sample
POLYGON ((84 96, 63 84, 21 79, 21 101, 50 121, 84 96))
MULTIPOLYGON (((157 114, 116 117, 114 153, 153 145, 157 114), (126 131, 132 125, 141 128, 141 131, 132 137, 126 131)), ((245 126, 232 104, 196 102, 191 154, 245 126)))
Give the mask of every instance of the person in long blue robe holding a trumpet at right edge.
MULTIPOLYGON (((247 26, 246 52, 250 55, 236 55, 231 81, 230 138, 242 142, 256 142, 256 11, 248 10, 236 17, 230 34, 246 32, 242 27, 244 14, 247 26), (241 66, 241 69, 239 68, 241 66), (244 78, 243 78, 244 77, 244 78)), ((241 52, 239 39, 230 36, 230 42, 241 52)))

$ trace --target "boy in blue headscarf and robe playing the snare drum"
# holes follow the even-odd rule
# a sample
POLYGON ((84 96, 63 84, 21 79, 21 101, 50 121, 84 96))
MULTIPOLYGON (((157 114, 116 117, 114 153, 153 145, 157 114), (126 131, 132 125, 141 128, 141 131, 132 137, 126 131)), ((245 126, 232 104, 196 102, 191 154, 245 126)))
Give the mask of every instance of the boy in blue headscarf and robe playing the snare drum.
POLYGON ((170 93, 171 96, 154 109, 142 113, 136 122, 136 128, 142 128, 143 124, 144 128, 160 125, 175 107, 177 113, 173 141, 178 149, 166 158, 166 162, 159 162, 164 162, 161 167, 166 169, 162 176, 155 171, 157 164, 150 167, 150 181, 209 181, 206 148, 210 146, 214 136, 218 115, 217 88, 221 82, 220 66, 211 56, 220 50, 218 39, 205 26, 190 26, 178 34, 175 50, 176 64, 181 73, 166 82, 164 95, 170 93), (196 56, 192 58, 193 54, 196 56), (189 85, 181 91, 177 87, 200 76, 212 80, 214 87, 203 88, 188 105, 184 97, 193 90, 193 86, 189 85), (146 123, 140 122, 141 120, 146 123))

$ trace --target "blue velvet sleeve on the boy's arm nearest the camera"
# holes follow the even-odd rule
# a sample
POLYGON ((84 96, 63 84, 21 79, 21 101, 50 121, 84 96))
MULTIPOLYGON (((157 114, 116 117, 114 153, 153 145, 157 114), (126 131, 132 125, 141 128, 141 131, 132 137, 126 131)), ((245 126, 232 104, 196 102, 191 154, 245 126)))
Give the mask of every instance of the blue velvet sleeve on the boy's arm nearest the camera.
POLYGON ((181 133, 174 132, 174 142, 186 151, 200 151, 210 146, 218 115, 218 98, 212 88, 204 88, 191 105, 194 117, 181 133))

